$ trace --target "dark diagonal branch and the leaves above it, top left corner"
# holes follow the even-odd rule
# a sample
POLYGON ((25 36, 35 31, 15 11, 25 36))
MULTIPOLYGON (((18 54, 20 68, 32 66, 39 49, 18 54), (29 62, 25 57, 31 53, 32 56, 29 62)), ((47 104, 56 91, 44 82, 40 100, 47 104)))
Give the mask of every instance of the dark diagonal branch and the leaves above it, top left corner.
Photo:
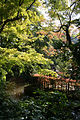
POLYGON ((0 4, 0 33, 3 31, 5 25, 9 22, 13 22, 24 18, 24 15, 21 13, 23 6, 27 12, 33 6, 37 0, 5 0, 0 4), (4 7, 3 7, 4 6, 4 7), (8 12, 7 12, 8 11, 8 12))

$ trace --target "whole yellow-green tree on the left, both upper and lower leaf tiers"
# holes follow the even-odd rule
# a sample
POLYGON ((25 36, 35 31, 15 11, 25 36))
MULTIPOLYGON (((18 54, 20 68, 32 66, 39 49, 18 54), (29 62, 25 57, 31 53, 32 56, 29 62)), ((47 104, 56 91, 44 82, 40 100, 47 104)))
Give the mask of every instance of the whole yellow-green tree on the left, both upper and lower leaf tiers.
MULTIPOLYGON (((37 11, 37 0, 1 1, 0 18, 0 80, 9 77, 30 76, 41 69, 50 68, 51 60, 46 59, 33 47, 35 26, 43 17, 37 11), (34 4, 35 3, 35 4, 34 4), (32 5, 35 5, 32 7, 32 5), (31 9, 32 7, 32 9, 31 9)), ((47 70, 49 71, 49 70, 47 70)))

